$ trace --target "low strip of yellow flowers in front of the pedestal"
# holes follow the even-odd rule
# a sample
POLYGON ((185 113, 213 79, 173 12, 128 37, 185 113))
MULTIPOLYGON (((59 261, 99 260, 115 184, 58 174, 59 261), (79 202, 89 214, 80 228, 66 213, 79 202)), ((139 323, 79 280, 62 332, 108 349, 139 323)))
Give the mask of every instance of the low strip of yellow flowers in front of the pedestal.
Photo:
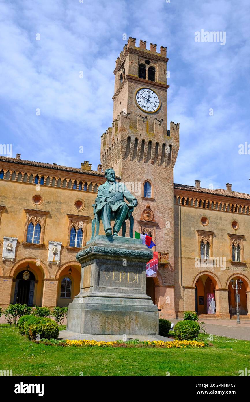
MULTIPOLYGON (((69 346, 99 346, 99 347, 108 347, 108 346, 118 346, 119 342, 114 341, 114 342, 104 342, 104 341, 96 341, 96 340, 66 340, 66 344, 69 346)), ((192 347, 192 348, 203 348, 205 347, 204 342, 197 342, 197 340, 174 340, 173 342, 164 342, 163 340, 144 340, 143 342, 138 342, 138 343, 130 343, 130 344, 125 344, 123 343, 122 346, 126 347, 130 345, 136 346, 136 345, 142 345, 142 346, 151 346, 151 347, 165 347, 167 349, 171 348, 180 348, 184 349, 187 347, 192 347)))

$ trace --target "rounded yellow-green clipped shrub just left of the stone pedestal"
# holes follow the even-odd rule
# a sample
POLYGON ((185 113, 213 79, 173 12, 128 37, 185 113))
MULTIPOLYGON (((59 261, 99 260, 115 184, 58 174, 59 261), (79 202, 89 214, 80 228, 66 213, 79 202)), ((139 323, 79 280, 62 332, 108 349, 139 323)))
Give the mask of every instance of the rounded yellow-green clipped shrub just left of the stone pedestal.
POLYGON ((24 327, 28 326, 28 338, 36 339, 37 335, 39 335, 40 338, 57 339, 59 335, 57 323, 51 318, 37 317, 37 319, 39 322, 30 323, 28 321, 24 325, 24 327))

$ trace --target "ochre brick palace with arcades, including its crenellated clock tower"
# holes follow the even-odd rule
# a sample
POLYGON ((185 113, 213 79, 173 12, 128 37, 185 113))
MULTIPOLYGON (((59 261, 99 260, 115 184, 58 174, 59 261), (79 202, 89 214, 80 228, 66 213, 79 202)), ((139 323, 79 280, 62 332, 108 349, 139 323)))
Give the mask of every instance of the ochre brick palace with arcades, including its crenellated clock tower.
MULTIPOLYGON (((179 123, 167 125, 167 49, 129 38, 114 70, 114 113, 97 171, 0 157, 0 305, 67 306, 79 293, 75 254, 91 237, 92 205, 113 167, 138 199, 134 229, 159 253, 147 294, 163 318, 196 310, 250 318, 250 195, 174 184, 179 123), (233 286, 232 286, 233 285, 233 286), (215 310, 208 299, 214 299, 215 310)), ((102 232, 104 233, 104 232, 102 232)), ((128 236, 128 233, 126 233, 128 236)))

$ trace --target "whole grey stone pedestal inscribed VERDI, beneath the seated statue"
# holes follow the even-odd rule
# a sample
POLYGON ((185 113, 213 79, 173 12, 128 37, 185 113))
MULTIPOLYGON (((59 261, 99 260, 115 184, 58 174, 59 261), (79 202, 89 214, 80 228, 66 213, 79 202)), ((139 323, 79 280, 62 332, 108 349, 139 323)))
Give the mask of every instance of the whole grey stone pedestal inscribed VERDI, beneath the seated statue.
POLYGON ((76 255, 80 293, 69 304, 67 330, 81 334, 157 335, 159 314, 146 295, 152 251, 140 239, 96 236, 76 255))

